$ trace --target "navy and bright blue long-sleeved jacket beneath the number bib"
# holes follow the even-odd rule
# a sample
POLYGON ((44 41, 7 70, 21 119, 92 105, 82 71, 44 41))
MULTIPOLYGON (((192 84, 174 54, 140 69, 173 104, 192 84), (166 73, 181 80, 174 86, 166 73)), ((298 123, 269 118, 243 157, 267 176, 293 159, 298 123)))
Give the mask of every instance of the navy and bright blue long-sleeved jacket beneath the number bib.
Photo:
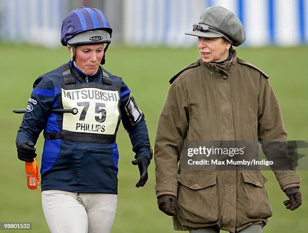
MULTIPOLYGON (((69 62, 71 67, 71 62, 69 62)), ((83 79, 75 78, 75 84, 85 82, 85 74, 79 70, 83 79)), ((124 128, 129 133, 133 150, 138 156, 150 158, 150 152, 142 146, 149 147, 147 127, 142 113, 141 119, 132 125, 124 109, 129 100, 130 90, 121 77, 108 71, 112 86, 119 86, 120 112, 124 128)), ((89 82, 103 84, 101 68, 89 82)), ((44 132, 60 132, 63 114, 50 113, 52 108, 62 108, 60 86, 64 85, 61 67, 38 77, 34 82, 32 95, 27 105, 27 112, 19 128, 16 144, 24 140, 36 143, 39 134, 44 132)), ((45 139, 42 154, 41 188, 56 189, 80 193, 112 193, 117 194, 119 152, 117 143, 81 142, 66 139, 45 139)))

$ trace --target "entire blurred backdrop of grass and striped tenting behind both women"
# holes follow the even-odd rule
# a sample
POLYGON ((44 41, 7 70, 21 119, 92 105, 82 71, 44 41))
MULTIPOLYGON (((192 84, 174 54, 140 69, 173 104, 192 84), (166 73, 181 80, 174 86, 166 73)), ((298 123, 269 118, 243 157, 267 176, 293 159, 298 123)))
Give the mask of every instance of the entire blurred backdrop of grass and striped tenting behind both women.
MULTIPOLYGON (((196 38, 184 33, 209 6, 223 6, 241 19, 247 40, 236 48, 238 56, 270 76, 288 139, 308 139, 308 0, 0 0, 0 222, 32 222, 27 232, 49 231, 40 190, 28 189, 25 165, 17 159, 15 138, 22 115, 12 110, 25 109, 36 77, 69 60, 60 44, 61 23, 81 6, 103 10, 113 27, 104 67, 122 76, 132 90, 152 144, 169 79, 199 57, 196 38)), ((119 195, 112 232, 175 232, 171 217, 157 207, 153 161, 147 184, 135 188, 139 172, 131 165, 134 153, 123 127, 117 142, 119 195)), ((39 164, 42 145, 40 136, 39 164)), ((263 173, 273 208, 265 233, 306 232, 308 172, 298 173, 303 204, 293 212, 284 208, 286 196, 273 173, 263 173)))

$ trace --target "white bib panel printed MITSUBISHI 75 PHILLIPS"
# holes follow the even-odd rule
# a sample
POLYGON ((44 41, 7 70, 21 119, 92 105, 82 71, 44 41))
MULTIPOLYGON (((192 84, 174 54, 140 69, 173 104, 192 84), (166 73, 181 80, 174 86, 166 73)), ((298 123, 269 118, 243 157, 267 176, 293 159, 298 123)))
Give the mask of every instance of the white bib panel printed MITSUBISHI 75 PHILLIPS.
POLYGON ((80 133, 115 134, 120 121, 118 87, 100 84, 61 87, 63 109, 78 109, 78 113, 63 113, 62 130, 80 133))

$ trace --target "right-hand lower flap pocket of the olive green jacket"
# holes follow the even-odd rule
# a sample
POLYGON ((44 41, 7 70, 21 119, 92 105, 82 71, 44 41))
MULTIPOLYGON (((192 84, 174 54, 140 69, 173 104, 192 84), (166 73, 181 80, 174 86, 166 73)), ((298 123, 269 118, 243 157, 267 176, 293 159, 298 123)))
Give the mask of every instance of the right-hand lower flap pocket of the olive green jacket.
POLYGON ((272 216, 272 209, 264 187, 267 179, 259 172, 242 172, 242 174, 246 207, 244 208, 247 216, 252 218, 272 216))

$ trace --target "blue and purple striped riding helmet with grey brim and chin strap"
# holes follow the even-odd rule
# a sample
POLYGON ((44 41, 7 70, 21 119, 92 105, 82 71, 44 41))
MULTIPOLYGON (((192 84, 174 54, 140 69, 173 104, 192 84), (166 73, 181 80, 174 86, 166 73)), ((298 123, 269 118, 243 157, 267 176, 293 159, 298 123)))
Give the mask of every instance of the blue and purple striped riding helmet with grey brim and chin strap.
POLYGON ((81 7, 71 11, 62 22, 61 43, 63 46, 81 44, 105 44, 101 64, 111 42, 112 28, 104 13, 95 8, 81 7))

